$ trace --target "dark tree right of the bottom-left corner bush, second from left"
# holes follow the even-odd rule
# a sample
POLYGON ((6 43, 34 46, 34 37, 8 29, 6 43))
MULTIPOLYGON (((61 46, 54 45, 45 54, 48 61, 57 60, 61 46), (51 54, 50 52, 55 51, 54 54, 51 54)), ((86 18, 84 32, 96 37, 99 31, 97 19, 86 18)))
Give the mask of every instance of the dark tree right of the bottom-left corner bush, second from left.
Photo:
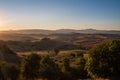
POLYGON ((37 54, 27 56, 22 63, 22 75, 26 80, 35 80, 39 77, 41 57, 37 54))

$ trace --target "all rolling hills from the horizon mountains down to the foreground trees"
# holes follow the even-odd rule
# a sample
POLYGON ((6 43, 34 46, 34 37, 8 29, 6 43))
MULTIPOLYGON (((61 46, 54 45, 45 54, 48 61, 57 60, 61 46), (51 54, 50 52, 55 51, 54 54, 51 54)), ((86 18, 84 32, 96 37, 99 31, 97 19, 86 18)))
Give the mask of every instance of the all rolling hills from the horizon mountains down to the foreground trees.
POLYGON ((0 42, 16 52, 40 50, 88 50, 101 42, 119 39, 120 31, 106 30, 12 30, 0 32, 0 42), (47 39, 47 40, 46 40, 47 39))

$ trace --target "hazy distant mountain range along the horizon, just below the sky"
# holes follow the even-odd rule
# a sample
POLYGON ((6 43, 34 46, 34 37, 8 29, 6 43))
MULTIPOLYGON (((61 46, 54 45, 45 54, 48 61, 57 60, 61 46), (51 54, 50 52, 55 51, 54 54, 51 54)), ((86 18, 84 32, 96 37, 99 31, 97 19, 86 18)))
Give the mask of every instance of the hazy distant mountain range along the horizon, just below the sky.
POLYGON ((96 30, 96 29, 59 29, 59 30, 42 30, 42 29, 26 29, 26 30, 9 30, 2 33, 18 33, 18 34, 57 34, 57 33, 86 33, 86 34, 120 34, 120 30, 96 30))

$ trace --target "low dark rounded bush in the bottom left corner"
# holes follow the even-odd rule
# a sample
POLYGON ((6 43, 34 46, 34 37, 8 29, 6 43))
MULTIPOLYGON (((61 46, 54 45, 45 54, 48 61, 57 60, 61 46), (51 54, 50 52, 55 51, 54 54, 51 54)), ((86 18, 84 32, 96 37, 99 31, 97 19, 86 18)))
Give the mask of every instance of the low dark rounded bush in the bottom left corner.
POLYGON ((2 62, 0 66, 1 80, 18 80, 20 69, 12 63, 2 62))

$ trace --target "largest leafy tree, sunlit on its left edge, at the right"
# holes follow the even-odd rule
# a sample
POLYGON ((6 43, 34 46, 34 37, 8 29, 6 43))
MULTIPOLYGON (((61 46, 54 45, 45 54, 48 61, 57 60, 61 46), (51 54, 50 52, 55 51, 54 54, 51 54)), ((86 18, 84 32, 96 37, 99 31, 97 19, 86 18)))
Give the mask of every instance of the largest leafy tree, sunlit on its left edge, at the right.
POLYGON ((120 76, 120 40, 104 42, 89 51, 86 69, 93 78, 120 76))

